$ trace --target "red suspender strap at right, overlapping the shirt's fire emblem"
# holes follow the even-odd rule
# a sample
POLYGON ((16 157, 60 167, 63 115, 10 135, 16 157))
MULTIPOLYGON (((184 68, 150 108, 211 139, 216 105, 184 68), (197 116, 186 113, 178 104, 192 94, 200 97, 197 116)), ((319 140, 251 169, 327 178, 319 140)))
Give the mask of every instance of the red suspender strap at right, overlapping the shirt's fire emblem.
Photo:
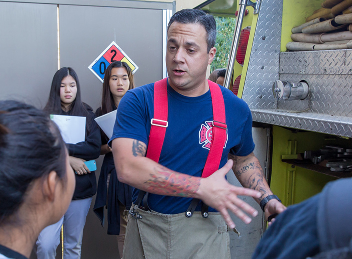
POLYGON ((210 176, 219 169, 221 156, 227 139, 226 129, 223 129, 227 128, 224 97, 218 84, 209 80, 208 83, 213 105, 213 125, 216 127, 212 129, 212 143, 203 169, 203 178, 210 176))

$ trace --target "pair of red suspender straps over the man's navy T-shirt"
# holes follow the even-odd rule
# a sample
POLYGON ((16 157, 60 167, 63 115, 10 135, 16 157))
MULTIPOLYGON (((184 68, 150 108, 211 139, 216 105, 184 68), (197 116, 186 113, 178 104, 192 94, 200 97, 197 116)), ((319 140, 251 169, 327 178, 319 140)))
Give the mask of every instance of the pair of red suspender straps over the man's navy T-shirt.
MULTIPOLYGON (((202 177, 208 177, 219 169, 220 160, 227 139, 224 98, 220 87, 209 81, 210 94, 213 105, 212 143, 204 166, 202 177)), ((167 78, 154 84, 154 118, 151 120, 151 129, 147 149, 147 157, 159 161, 163 146, 167 122, 167 78)))

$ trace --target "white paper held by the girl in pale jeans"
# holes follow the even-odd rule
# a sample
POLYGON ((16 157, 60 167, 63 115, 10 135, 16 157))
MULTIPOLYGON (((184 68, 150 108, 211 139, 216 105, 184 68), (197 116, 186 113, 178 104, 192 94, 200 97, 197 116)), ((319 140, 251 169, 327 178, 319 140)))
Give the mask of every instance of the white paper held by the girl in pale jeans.
POLYGON ((85 139, 85 117, 50 115, 50 119, 60 129, 63 141, 67 144, 76 144, 85 139))

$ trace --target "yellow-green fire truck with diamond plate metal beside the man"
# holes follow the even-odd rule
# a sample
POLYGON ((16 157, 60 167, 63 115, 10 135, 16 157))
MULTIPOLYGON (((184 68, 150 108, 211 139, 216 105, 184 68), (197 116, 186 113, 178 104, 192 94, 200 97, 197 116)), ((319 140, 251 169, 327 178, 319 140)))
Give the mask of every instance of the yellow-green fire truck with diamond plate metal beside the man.
MULTIPOLYGON (((352 49, 347 46, 352 38, 325 43, 292 39, 293 28, 313 24, 306 25, 312 15, 320 19, 318 25, 332 22, 335 28, 310 35, 351 34, 349 24, 334 23, 352 5, 341 7, 340 2, 346 3, 208 0, 197 6, 215 16, 237 17, 224 86, 231 89, 233 80, 231 90, 249 105, 255 154, 286 206, 319 193, 329 181, 352 175, 352 49), (324 8, 326 3, 331 6, 324 8), (305 47, 290 51, 295 44, 305 47)), ((231 238, 232 256, 250 258, 266 222, 262 218, 252 227, 236 224, 241 235, 231 238)))

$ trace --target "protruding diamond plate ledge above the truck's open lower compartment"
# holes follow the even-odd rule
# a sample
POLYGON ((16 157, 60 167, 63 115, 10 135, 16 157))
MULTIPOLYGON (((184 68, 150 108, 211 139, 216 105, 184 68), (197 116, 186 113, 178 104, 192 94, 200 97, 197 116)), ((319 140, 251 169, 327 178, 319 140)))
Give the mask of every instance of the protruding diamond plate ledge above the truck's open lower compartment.
POLYGON ((267 124, 352 137, 352 118, 252 109, 253 120, 267 124))

